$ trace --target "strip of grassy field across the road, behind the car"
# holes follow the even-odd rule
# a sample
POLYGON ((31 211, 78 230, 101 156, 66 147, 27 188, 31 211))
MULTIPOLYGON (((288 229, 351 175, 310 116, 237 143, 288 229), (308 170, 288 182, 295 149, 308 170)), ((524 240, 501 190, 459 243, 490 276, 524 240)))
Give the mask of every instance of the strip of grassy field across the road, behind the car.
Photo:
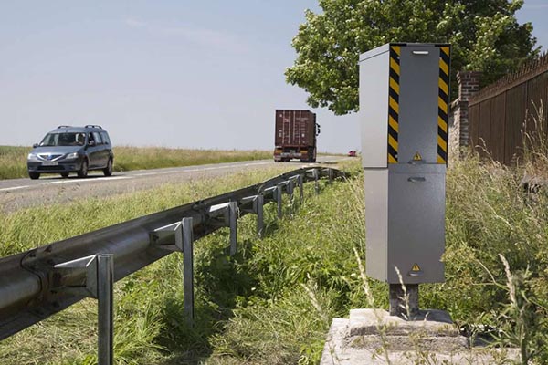
MULTIPOLYGON (((26 155, 30 147, 0 146, 0 179, 27 177, 26 155)), ((159 169, 205 163, 264 160, 271 151, 186 150, 159 147, 115 147, 114 171, 159 169)))

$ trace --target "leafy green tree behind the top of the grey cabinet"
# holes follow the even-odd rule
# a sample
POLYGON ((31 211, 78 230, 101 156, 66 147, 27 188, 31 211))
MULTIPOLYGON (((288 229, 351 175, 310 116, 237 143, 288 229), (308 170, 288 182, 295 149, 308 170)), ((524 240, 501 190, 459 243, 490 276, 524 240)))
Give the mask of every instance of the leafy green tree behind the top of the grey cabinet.
MULTIPOLYGON (((313 108, 341 115, 358 110, 358 57, 388 42, 450 43, 452 79, 458 70, 500 78, 536 56, 532 25, 518 24, 523 0, 319 0, 306 11, 285 75, 309 93, 313 108)), ((456 89, 456 88, 453 88, 456 89)))

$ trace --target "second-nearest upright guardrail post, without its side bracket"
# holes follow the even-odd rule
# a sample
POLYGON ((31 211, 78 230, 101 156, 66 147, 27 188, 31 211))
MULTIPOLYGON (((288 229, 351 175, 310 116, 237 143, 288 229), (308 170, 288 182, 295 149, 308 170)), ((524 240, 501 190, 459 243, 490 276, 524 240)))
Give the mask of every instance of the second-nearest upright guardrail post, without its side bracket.
POLYGON ((194 326, 194 253, 193 253, 193 222, 192 217, 183 218, 183 286, 184 315, 190 327, 194 326))

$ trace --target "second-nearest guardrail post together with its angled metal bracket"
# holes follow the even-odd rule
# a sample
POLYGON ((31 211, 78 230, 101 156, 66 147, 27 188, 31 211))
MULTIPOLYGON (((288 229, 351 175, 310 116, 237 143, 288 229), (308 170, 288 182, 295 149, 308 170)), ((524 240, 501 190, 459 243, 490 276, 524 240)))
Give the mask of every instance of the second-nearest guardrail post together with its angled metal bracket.
POLYGON ((194 228, 192 217, 168 224, 151 233, 151 242, 158 248, 183 253, 184 315, 190 327, 194 326, 194 228), (165 241, 174 235, 175 241, 165 241))

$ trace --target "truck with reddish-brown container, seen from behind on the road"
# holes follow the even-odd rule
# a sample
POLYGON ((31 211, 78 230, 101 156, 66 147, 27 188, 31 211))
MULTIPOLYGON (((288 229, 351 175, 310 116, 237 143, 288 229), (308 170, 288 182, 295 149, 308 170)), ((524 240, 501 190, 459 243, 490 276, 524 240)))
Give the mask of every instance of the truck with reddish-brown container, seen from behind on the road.
POLYGON ((316 162, 320 125, 311 110, 276 110, 274 161, 316 162))

